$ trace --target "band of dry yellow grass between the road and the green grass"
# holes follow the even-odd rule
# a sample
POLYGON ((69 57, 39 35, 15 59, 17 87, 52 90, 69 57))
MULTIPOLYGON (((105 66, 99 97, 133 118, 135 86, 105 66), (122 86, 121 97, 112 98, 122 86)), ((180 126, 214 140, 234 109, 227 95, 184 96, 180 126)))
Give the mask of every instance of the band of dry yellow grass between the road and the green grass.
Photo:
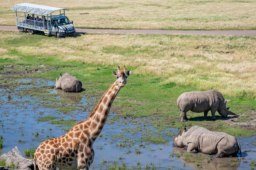
POLYGON ((12 32, 18 38, 10 47, 4 45, 5 34, 8 32, 0 31, 3 48, 21 54, 128 65, 134 67, 133 73, 164 78, 162 84, 216 89, 230 96, 256 96, 255 37, 85 34, 57 39, 12 32), (31 44, 25 45, 24 38, 33 38, 31 44))

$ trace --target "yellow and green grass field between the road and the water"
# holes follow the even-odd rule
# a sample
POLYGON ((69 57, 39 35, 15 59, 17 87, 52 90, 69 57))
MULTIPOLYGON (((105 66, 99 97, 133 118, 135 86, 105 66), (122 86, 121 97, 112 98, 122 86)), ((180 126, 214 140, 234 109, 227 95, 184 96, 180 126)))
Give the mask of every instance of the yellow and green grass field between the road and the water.
MULTIPOLYGON (((27 76, 55 80, 60 72, 69 72, 83 82, 88 97, 99 99, 115 80, 111 70, 125 64, 132 69, 132 75, 111 112, 151 116, 153 121, 149 123, 159 129, 201 125, 236 136, 251 136, 255 126, 239 123, 250 124, 256 119, 255 42, 254 37, 111 34, 57 39, 0 31, 0 66, 59 67, 27 76), (207 89, 220 90, 231 99, 230 110, 242 115, 237 123, 217 116, 209 125, 210 115, 204 120, 203 113, 191 112, 190 121, 179 122, 177 97, 185 91, 207 89)), ((0 83, 11 84, 12 80, 0 83)))

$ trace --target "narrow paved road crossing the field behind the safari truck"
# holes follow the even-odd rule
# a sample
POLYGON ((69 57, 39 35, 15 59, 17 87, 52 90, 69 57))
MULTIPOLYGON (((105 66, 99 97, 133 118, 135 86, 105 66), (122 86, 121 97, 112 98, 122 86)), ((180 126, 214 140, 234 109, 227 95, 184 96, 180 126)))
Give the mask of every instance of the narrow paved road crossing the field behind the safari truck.
MULTIPOLYGON (((0 30, 17 30, 16 26, 0 26, 0 30)), ((110 34, 169 34, 169 35, 245 35, 256 36, 256 30, 226 30, 226 31, 182 31, 182 30, 109 30, 109 29, 81 29, 76 32, 82 33, 110 33, 110 34)))

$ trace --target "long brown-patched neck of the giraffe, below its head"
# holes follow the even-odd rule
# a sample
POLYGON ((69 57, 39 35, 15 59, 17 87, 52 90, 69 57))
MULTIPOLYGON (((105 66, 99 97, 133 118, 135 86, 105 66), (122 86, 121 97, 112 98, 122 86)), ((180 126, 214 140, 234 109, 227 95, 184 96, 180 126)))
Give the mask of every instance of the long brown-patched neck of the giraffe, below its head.
POLYGON ((108 117, 110 107, 120 90, 120 86, 118 86, 117 80, 109 87, 109 89, 104 93, 102 98, 100 99, 98 105, 94 109, 93 113, 90 115, 90 127, 89 130, 91 132, 91 139, 95 141, 95 139, 100 134, 106 119, 108 117))

